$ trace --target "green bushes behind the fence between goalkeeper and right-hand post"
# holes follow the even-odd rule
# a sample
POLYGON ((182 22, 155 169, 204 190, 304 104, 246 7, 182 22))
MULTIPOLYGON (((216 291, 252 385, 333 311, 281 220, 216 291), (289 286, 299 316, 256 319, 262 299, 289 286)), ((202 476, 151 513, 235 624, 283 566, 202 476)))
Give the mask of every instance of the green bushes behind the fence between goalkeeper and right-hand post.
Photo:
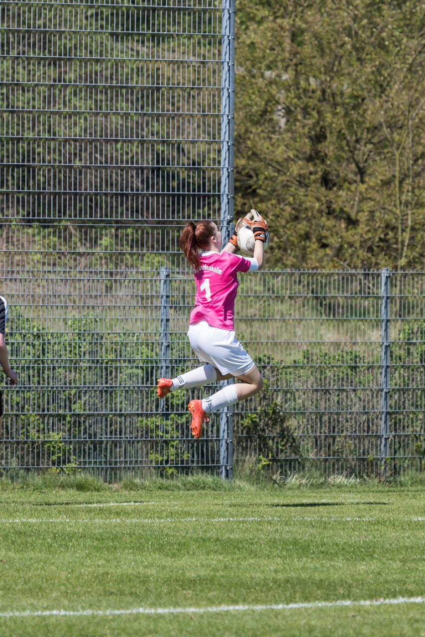
POLYGON ((329 470, 333 459, 346 459, 347 468, 357 466, 356 435, 366 433, 357 423, 357 412, 366 410, 370 401, 370 373, 363 369, 359 375, 363 362, 356 350, 333 353, 325 348, 306 348, 289 365, 270 359, 261 366, 266 382, 259 412, 241 420, 241 432, 249 440, 238 441, 238 454, 249 446, 250 454, 260 457, 260 466, 270 469, 299 468, 309 459, 324 457, 329 470), (271 392, 270 386, 282 389, 271 392))

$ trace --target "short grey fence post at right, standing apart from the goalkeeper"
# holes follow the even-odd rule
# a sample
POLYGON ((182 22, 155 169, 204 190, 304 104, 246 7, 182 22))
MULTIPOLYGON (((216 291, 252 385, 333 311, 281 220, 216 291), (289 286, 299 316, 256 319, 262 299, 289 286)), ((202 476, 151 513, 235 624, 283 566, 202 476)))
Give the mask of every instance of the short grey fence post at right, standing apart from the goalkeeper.
POLYGON ((389 454, 389 348, 390 348, 390 333, 389 333, 389 318, 390 318, 390 306, 389 306, 389 293, 390 293, 390 276, 391 272, 389 268, 383 268, 381 270, 381 388, 382 388, 382 401, 381 401, 381 443, 380 443, 380 457, 382 471, 381 475, 384 476, 387 472, 386 459, 389 454))

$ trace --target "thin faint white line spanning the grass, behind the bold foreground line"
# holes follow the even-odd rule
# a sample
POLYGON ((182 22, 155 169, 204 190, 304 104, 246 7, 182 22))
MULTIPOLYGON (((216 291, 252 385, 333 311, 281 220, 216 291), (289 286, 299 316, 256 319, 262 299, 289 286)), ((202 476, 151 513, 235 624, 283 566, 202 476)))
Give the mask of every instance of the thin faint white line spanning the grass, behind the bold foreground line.
MULTIPOLYGON (((402 517, 395 518, 394 520, 404 521, 413 521, 413 522, 424 522, 425 517, 402 517)), ((277 517, 277 516, 268 516, 268 517, 219 517, 219 518, 197 518, 197 517, 188 517, 188 518, 0 518, 0 524, 49 524, 52 523, 62 523, 62 524, 120 524, 120 523, 129 523, 129 524, 170 524, 173 522, 289 522, 296 521, 302 522, 307 521, 310 522, 312 520, 323 520, 324 522, 373 522, 377 520, 375 517, 335 517, 335 516, 303 516, 303 515, 292 515, 292 517, 277 517)), ((391 522, 393 518, 389 518, 388 521, 391 522)))

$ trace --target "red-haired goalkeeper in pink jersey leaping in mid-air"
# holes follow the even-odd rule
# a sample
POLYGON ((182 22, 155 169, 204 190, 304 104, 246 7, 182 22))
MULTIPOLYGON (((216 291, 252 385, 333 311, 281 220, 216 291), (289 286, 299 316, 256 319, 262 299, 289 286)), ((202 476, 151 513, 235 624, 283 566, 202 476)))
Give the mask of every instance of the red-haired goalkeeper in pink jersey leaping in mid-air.
POLYGON ((164 398, 176 389, 201 387, 217 380, 237 378, 212 396, 192 400, 187 406, 192 413, 191 431, 201 438, 208 414, 227 405, 254 396, 263 388, 263 378, 250 355, 234 335, 234 299, 238 289, 238 272, 254 272, 263 268, 266 221, 255 212, 257 220, 245 218, 255 238, 254 257, 234 254, 237 234, 222 250, 222 236, 212 221, 197 225, 189 222, 180 236, 180 247, 193 268, 196 282, 195 308, 189 322, 189 341, 199 361, 205 363, 177 378, 159 378, 157 394, 164 398))

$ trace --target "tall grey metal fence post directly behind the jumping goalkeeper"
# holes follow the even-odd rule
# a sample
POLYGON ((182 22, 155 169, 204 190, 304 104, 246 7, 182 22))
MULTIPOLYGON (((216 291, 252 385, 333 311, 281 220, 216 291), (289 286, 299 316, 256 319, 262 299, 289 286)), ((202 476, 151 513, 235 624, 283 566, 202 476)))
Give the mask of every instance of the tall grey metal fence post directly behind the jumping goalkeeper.
MULTIPOLYGON (((234 217, 234 8, 222 0, 221 57, 221 231, 226 245, 233 234, 234 217)), ((223 387, 227 381, 220 383, 223 387)), ((220 478, 233 475, 233 406, 220 412, 220 478)))

